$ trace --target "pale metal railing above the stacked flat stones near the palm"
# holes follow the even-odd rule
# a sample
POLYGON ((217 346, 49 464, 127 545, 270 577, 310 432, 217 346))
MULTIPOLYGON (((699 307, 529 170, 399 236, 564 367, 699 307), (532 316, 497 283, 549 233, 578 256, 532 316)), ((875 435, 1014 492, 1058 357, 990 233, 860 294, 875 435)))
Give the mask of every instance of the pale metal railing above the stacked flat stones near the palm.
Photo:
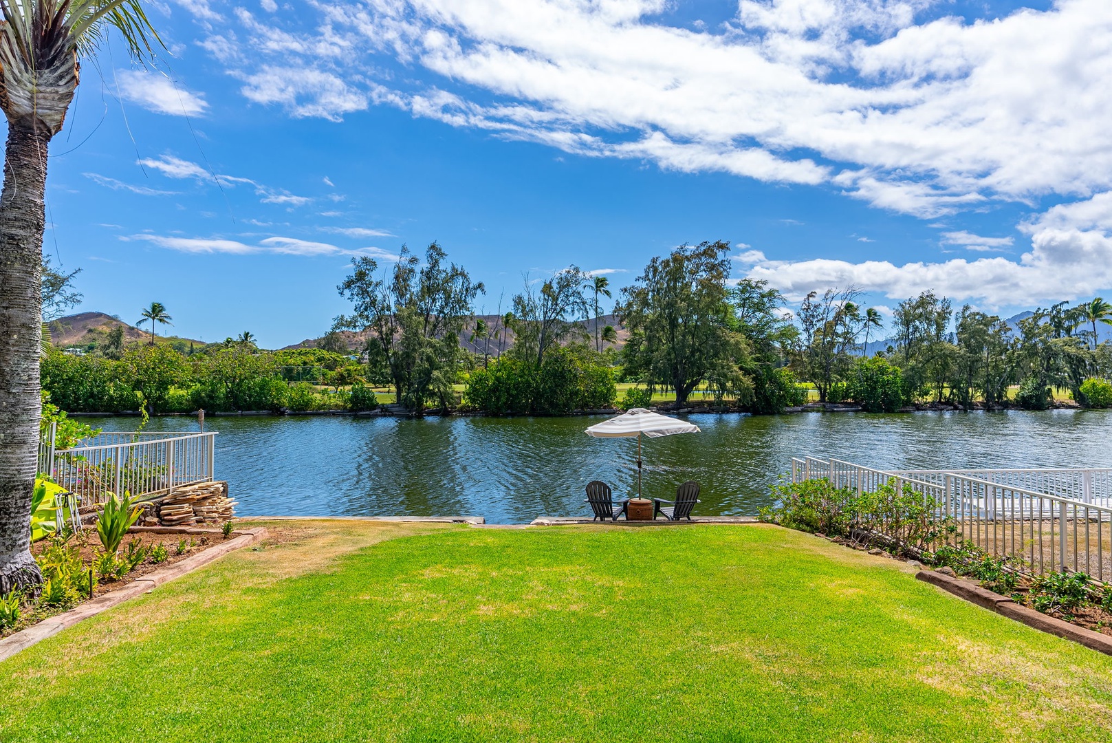
POLYGON ((110 493, 143 501, 176 487, 216 479, 216 433, 108 433, 80 446, 54 448, 51 428, 39 445, 39 472, 79 496, 83 507, 110 493))

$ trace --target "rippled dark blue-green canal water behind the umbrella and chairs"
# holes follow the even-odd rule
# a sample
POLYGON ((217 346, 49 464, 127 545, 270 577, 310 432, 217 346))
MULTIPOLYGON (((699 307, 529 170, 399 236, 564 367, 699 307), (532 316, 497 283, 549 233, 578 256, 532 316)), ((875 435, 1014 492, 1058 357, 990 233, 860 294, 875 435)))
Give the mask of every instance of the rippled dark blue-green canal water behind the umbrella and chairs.
MULTIPOLYGON (((685 416, 698 434, 643 439, 644 493, 698 481, 696 514, 755 515, 793 456, 878 468, 1112 467, 1112 412, 807 413, 685 416)), ((636 491, 635 439, 586 436, 603 416, 559 418, 209 417, 216 472, 237 514, 486 516, 527 523, 587 515, 584 486, 636 491)), ((136 418, 86 418, 131 430, 136 418)), ((197 430, 188 417, 148 430, 197 430)))

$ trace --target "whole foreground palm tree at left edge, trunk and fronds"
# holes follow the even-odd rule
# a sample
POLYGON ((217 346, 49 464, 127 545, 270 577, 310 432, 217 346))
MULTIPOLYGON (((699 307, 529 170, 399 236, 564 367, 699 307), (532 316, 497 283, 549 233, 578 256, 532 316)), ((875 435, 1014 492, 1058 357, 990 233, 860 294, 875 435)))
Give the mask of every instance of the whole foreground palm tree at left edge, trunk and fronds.
MULTIPOLYGON (((38 591, 30 553, 41 399, 42 234, 50 140, 78 85, 78 60, 116 27, 135 57, 153 31, 138 0, 0 0, 0 594, 38 591)), ((155 37, 157 38, 157 37, 155 37)))

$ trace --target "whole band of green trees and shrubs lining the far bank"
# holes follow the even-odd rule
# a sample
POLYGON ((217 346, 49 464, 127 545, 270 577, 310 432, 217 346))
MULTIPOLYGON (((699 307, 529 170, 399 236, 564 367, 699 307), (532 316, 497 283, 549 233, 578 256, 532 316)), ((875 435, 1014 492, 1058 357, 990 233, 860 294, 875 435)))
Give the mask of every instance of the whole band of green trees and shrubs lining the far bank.
POLYGON ((259 349, 158 338, 170 315, 143 309, 146 340, 88 328, 85 348, 47 349, 50 400, 68 413, 192 415, 573 415, 896 413, 1112 406, 1112 325, 1101 298, 1039 309, 1015 326, 925 291, 887 320, 854 287, 795 307, 764 281, 729 279, 729 245, 681 246, 612 296, 572 266, 529 280, 496 315, 485 287, 431 244, 380 268, 359 257, 337 287, 351 313, 315 347, 259 349), (508 309, 508 311, 503 311, 508 309), (602 327, 602 320, 613 320, 602 327), (98 335, 99 334, 99 335, 98 335), (101 336, 105 336, 101 338, 101 336), (871 343, 870 338, 874 340, 871 343), (883 349, 878 346, 883 344, 883 349), (872 351, 872 353, 870 353, 872 351))

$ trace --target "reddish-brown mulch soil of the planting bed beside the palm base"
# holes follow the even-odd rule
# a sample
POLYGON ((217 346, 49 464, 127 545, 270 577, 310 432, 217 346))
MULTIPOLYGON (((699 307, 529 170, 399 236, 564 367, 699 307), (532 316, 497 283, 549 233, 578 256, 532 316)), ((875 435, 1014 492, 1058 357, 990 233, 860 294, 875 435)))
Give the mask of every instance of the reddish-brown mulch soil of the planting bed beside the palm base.
MULTIPOLYGON (((236 534, 232 533, 231 536, 235 537, 236 534)), ((127 537, 125 537, 123 542, 120 543, 121 555, 127 552, 128 543, 135 537, 138 537, 141 541, 143 547, 153 547, 155 545, 159 544, 162 545, 163 547, 166 547, 167 558, 160 563, 156 563, 155 561, 151 559, 150 555, 148 554, 147 557, 143 559, 143 562, 137 565, 133 571, 125 575, 122 578, 113 581, 107 581, 105 578, 100 578, 100 582, 92 592, 92 596, 89 596, 88 598, 77 602, 76 604, 69 606, 54 606, 54 607, 26 606, 23 608, 23 615, 20 617, 20 621, 16 624, 16 626, 0 628, 0 638, 16 634, 21 630, 26 630, 30 626, 33 626, 39 622, 48 620, 51 616, 61 614, 62 612, 68 612, 75 606, 79 606, 88 601, 91 601, 92 598, 96 598, 97 596, 102 596, 106 593, 118 591, 120 587, 126 586, 127 584, 132 583, 138 578, 143 577, 148 573, 153 573, 157 569, 166 567, 167 565, 173 565, 175 563, 180 563, 181 561, 191 557, 198 554, 199 552, 207 549, 208 547, 211 547, 214 544, 219 544, 225 538, 219 529, 212 529, 211 533, 205 533, 205 534, 182 534, 182 533, 155 534, 150 532, 143 532, 143 533, 128 532, 127 537), (178 554, 179 544, 181 544, 183 549, 181 554, 178 554)), ((81 555, 81 559, 85 563, 89 563, 93 558, 95 553, 100 549, 100 539, 97 538, 97 533, 95 529, 87 528, 83 529, 81 534, 76 535, 69 542, 69 545, 77 546, 78 553, 81 555)), ((49 546, 50 543, 48 539, 40 539, 39 542, 36 542, 34 544, 31 545, 31 554, 37 557, 41 555, 49 546)))

